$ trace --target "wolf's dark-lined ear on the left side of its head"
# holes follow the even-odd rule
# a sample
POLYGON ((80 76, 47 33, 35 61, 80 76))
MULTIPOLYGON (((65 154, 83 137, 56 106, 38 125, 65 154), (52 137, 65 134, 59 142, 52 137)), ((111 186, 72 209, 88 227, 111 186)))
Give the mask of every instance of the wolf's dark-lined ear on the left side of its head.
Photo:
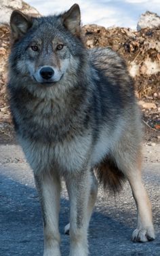
POLYGON ((22 14, 22 12, 15 10, 12 12, 10 18, 10 26, 12 30, 12 37, 15 41, 20 39, 29 28, 32 26, 31 17, 22 14))

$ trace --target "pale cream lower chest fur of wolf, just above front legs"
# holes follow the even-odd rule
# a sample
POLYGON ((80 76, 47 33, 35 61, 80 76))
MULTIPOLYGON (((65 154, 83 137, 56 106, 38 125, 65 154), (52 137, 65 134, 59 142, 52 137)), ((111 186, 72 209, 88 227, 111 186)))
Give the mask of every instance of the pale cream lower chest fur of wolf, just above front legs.
POLYGON ((35 172, 58 168, 62 172, 82 170, 89 157, 92 139, 87 134, 62 143, 41 143, 20 139, 26 159, 35 172), (87 157, 88 156, 88 157, 87 157))

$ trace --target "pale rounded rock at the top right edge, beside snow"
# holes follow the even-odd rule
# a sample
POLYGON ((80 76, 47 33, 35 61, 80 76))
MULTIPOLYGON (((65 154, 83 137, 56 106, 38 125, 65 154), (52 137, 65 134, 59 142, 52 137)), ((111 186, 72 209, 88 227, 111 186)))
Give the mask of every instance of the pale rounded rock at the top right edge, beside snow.
POLYGON ((140 20, 137 24, 137 30, 150 28, 153 29, 155 27, 160 26, 160 17, 154 12, 145 12, 140 16, 140 20))

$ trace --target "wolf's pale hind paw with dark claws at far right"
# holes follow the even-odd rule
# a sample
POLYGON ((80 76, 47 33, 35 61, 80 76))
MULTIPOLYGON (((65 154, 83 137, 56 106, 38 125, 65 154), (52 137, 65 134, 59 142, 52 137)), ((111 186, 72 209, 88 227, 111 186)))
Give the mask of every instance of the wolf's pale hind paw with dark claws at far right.
POLYGON ((155 239, 155 232, 153 227, 148 227, 146 229, 138 229, 134 230, 132 234, 133 242, 149 242, 155 239))

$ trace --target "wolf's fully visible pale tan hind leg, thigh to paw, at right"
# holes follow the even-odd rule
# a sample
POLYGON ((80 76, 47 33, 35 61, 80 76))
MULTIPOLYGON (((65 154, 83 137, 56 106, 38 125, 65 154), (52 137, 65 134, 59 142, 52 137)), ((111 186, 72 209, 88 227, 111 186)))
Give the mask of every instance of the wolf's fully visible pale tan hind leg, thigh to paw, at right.
POLYGON ((115 153, 117 166, 127 177, 132 188, 132 194, 136 201, 138 211, 138 224, 136 230, 132 234, 134 242, 147 242, 155 239, 155 232, 152 221, 151 202, 146 193, 146 189, 142 184, 141 178, 141 153, 140 148, 132 148, 132 144, 119 146, 119 150, 115 153), (128 146, 127 146, 128 145, 128 146))

